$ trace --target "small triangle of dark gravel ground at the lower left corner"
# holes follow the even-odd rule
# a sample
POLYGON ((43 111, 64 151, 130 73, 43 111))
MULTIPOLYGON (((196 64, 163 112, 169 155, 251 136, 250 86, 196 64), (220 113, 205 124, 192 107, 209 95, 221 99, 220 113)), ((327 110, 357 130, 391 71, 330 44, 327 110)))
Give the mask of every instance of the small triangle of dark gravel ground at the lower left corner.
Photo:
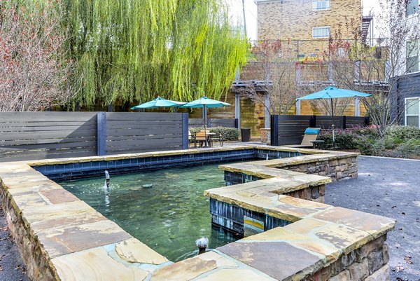
POLYGON ((0 207, 0 280, 29 281, 22 256, 13 241, 6 217, 0 207))

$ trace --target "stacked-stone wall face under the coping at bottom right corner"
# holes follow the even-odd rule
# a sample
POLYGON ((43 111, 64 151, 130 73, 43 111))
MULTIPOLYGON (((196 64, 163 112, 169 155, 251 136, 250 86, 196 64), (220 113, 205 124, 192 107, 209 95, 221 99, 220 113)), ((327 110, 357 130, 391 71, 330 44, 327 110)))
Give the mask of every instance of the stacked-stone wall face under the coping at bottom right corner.
POLYGON ((386 235, 344 254, 307 277, 305 281, 386 281, 389 280, 389 255, 386 235))

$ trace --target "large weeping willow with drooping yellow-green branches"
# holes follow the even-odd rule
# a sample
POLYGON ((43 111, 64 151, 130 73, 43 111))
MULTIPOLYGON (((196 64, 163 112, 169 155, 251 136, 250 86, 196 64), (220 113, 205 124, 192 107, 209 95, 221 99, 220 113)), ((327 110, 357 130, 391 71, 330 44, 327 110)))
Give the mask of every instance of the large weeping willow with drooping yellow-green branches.
POLYGON ((64 0, 76 100, 219 99, 247 55, 221 0, 64 0))

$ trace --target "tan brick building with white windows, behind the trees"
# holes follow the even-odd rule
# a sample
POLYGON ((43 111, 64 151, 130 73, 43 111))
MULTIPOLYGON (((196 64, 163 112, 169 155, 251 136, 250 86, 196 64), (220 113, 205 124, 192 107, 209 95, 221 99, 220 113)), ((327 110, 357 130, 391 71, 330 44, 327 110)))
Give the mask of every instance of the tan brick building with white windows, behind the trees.
MULTIPOLYGON (((254 0, 258 8, 258 40, 297 41, 299 57, 328 50, 328 39, 353 39, 362 25, 361 0, 254 0)), ((368 25, 367 25, 368 27, 368 25)))

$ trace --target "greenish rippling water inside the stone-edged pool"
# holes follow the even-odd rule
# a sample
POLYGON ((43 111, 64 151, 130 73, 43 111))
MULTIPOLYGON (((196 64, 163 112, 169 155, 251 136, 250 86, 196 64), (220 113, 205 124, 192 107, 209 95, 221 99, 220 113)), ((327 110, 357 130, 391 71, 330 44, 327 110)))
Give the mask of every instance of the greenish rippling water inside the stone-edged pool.
POLYGON ((105 177, 59 184, 171 261, 195 256, 197 238, 209 238, 209 248, 239 238, 211 227, 203 191, 225 185, 218 164, 111 174, 109 188, 105 177))

